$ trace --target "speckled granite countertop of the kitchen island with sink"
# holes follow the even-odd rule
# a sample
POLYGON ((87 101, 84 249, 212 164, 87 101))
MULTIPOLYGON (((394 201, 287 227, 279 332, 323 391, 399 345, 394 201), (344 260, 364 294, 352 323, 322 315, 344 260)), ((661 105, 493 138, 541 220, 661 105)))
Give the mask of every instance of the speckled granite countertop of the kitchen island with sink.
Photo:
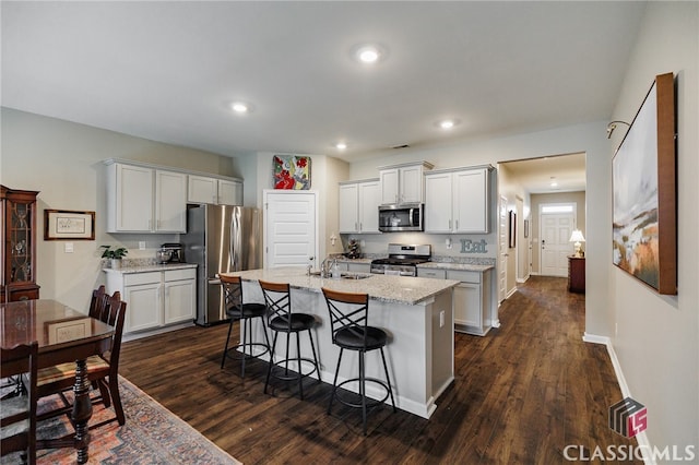
POLYGON ((437 294, 458 285, 453 279, 430 279, 412 276, 386 276, 382 274, 348 273, 350 275, 369 276, 365 279, 332 279, 320 276, 308 276, 303 267, 281 267, 271 270, 250 270, 245 272, 224 273, 240 276, 244 281, 270 281, 288 283, 296 289, 321 293, 322 287, 344 293, 366 293, 371 299, 386 302, 419 305, 437 294))

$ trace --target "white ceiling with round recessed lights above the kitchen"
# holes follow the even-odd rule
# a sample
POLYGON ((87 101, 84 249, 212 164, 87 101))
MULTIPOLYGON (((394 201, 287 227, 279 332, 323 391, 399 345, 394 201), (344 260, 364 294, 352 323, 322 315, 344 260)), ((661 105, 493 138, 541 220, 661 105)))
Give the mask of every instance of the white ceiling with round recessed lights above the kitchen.
POLYGON ((643 9, 2 1, 2 105, 222 155, 360 159, 608 119, 643 9), (386 59, 354 61, 364 43, 386 59), (232 114, 237 99, 252 112, 232 114))

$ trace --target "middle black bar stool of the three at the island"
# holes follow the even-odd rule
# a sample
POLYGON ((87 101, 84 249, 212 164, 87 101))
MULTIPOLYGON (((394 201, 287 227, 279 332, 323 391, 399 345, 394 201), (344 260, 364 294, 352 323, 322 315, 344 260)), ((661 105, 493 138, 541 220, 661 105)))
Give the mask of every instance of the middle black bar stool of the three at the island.
MULTIPOLYGON (((320 369, 318 368, 318 357, 316 357, 316 345, 313 343, 313 334, 311 329, 316 325, 316 318, 312 314, 292 312, 292 298, 288 283, 269 283, 260 281, 260 287, 264 295, 264 301, 266 302, 266 325, 274 332, 272 338, 272 351, 270 367, 266 372, 266 381, 264 382, 264 393, 266 394, 266 388, 270 383, 270 378, 274 375, 280 380, 298 381, 298 392, 300 398, 304 398, 304 378, 316 372, 318 375, 318 382, 320 382, 320 369), (313 359, 301 357, 301 348, 299 342, 299 333, 308 331, 308 337, 310 338, 310 348, 313 353, 313 359), (286 333, 286 355, 283 360, 274 362, 274 351, 276 348, 276 337, 280 333, 286 333), (288 351, 289 339, 292 334, 296 334, 296 357, 291 357, 288 351), (296 362, 296 372, 291 372, 289 361, 296 362), (312 369, 304 373, 301 361, 308 361, 312 363, 312 369), (282 367, 283 366, 283 367, 282 367), (283 373, 272 373, 274 368, 283 369, 283 373)), ((279 370, 277 370, 279 371, 279 370)))

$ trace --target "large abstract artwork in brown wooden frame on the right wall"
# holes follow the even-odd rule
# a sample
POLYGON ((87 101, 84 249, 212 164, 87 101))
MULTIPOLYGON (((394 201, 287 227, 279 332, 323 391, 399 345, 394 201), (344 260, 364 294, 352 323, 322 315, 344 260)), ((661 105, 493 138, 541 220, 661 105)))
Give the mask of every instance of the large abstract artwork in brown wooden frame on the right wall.
POLYGON ((613 261, 660 294, 677 294, 675 83, 655 76, 612 160, 613 261))

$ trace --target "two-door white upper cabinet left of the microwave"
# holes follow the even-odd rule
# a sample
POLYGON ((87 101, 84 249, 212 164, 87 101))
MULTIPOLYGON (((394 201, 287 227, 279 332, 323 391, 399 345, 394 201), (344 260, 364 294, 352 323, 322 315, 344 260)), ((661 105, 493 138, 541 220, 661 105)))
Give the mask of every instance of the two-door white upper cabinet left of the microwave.
POLYGON ((340 233, 379 233, 379 180, 340 183, 340 233))

